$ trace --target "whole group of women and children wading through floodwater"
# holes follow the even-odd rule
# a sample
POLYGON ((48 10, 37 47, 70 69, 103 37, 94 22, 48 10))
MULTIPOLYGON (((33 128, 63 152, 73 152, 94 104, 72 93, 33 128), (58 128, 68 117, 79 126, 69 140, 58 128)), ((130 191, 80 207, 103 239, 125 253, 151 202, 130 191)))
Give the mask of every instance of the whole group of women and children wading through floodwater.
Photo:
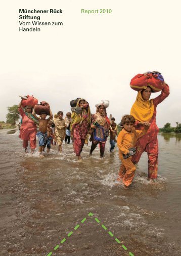
MULTIPOLYGON (((144 151, 148 154, 148 179, 157 178, 158 169, 158 127, 156 125, 156 107, 169 95, 169 87, 164 83, 161 95, 150 100, 152 88, 147 87, 140 90, 137 95, 130 114, 124 115, 121 120, 122 131, 117 137, 119 148, 119 158, 122 161, 120 166, 118 181, 122 181, 128 187, 134 177, 135 163, 138 163, 144 151)), ((51 115, 46 119, 47 114, 41 113, 37 117, 30 106, 22 108, 22 101, 19 104, 19 112, 22 116, 20 128, 20 138, 23 139, 23 148, 27 152, 28 141, 30 141, 31 152, 36 148, 36 135, 39 139, 39 152, 46 144, 50 149, 50 144, 54 136, 55 142, 62 151, 62 143, 70 143, 72 138, 73 148, 77 160, 81 161, 81 152, 86 142, 87 135, 90 134, 92 142, 90 154, 99 144, 100 157, 104 156, 105 145, 110 135, 110 152, 115 147, 116 123, 107 117, 106 105, 104 101, 96 105, 96 113, 91 114, 87 101, 83 98, 77 100, 77 109, 67 113, 63 119, 63 112, 51 115), (55 124, 55 125, 52 125, 55 124), (51 127, 55 126, 55 127, 51 127), (65 138, 66 137, 66 138, 65 138)))

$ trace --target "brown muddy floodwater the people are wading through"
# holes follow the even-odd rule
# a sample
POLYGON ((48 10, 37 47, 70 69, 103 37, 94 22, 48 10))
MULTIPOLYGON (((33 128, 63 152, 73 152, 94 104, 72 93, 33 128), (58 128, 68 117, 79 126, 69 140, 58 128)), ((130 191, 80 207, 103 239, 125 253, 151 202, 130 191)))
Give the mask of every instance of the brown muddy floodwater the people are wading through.
POLYGON ((24 154, 18 131, 0 131, 0 255, 181 255, 181 135, 158 140, 157 181, 147 181, 144 154, 125 190, 109 143, 103 160, 88 145, 76 163, 72 145, 40 159, 24 154))

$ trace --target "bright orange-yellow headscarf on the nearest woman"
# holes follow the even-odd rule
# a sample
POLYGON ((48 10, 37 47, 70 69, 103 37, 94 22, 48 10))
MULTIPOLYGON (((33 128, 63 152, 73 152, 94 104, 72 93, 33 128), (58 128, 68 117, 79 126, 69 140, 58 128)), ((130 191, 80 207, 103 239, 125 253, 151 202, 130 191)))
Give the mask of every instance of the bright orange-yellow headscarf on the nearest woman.
POLYGON ((133 115, 136 120, 149 122, 154 113, 153 99, 147 101, 144 100, 141 92, 142 90, 138 92, 137 99, 132 105, 130 114, 133 115))

